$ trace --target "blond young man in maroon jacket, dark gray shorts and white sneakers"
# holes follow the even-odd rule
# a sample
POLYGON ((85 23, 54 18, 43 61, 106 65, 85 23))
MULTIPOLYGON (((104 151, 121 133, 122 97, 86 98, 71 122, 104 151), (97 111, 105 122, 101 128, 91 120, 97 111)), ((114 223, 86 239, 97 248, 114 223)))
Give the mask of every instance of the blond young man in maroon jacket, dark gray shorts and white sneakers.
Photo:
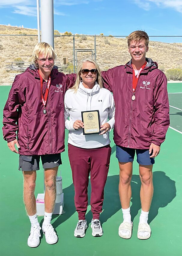
POLYGON ((15 77, 3 112, 3 134, 11 151, 18 153, 19 170, 24 177, 24 203, 31 222, 28 238, 30 247, 40 243, 35 201, 36 170, 40 157, 44 168, 45 215, 42 230, 46 242, 54 244, 58 238, 50 224, 55 198, 56 174, 64 151, 65 121, 64 95, 74 83, 74 75, 59 73, 54 66, 56 53, 41 42, 35 45, 33 61, 26 71, 15 77), (18 111, 17 111, 18 110, 18 111))

